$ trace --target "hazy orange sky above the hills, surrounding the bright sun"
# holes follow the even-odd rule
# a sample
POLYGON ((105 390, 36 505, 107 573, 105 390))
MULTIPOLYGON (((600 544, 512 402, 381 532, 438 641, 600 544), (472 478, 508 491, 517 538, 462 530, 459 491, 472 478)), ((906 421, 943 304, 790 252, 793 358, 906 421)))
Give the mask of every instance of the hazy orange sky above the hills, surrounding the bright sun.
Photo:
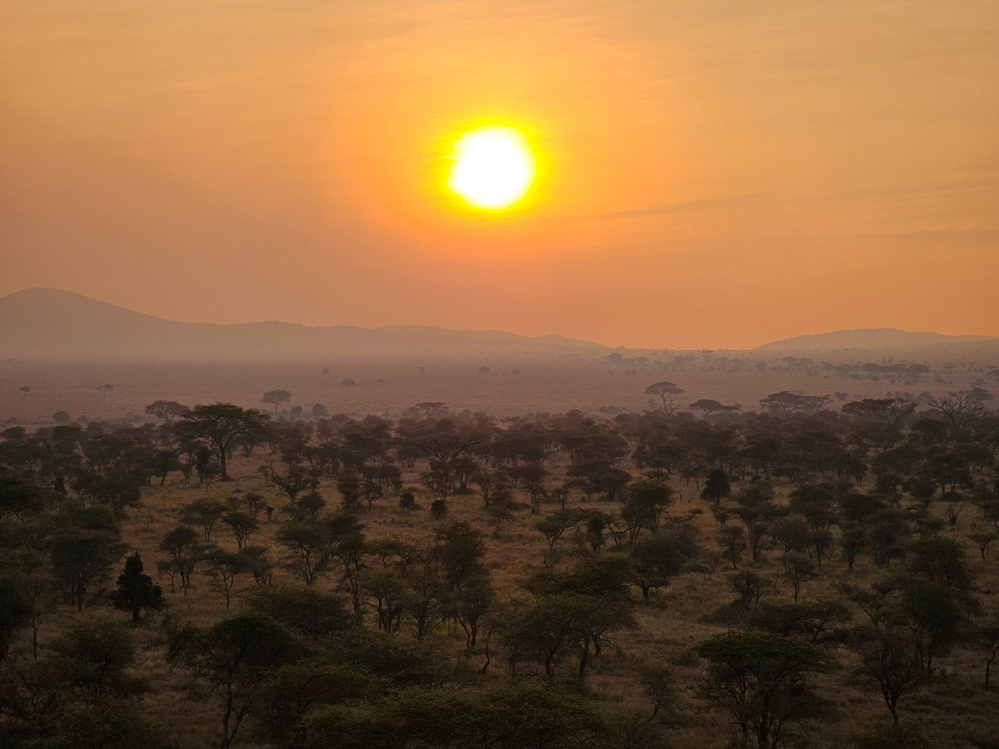
POLYGON ((999 3, 0 0, 0 261, 190 322, 999 335, 999 3), (539 159, 490 217, 479 122, 539 159))

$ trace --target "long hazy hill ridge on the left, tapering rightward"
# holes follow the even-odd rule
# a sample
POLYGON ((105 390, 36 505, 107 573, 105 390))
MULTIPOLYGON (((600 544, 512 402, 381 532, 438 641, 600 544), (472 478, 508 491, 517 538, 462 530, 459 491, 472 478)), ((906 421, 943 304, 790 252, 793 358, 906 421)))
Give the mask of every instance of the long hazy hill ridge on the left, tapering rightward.
POLYGON ((178 323, 59 289, 0 298, 0 360, 322 360, 605 351, 561 336, 422 326, 311 328, 292 323, 178 323))

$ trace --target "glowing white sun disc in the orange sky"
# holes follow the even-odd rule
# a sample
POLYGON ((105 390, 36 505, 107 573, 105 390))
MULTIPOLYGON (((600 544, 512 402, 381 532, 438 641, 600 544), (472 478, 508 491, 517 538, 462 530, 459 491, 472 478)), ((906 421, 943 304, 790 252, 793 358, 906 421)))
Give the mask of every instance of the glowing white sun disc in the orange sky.
POLYGON ((455 143, 453 159, 448 187, 476 208, 509 208, 534 181, 534 154, 515 128, 466 133, 455 143))

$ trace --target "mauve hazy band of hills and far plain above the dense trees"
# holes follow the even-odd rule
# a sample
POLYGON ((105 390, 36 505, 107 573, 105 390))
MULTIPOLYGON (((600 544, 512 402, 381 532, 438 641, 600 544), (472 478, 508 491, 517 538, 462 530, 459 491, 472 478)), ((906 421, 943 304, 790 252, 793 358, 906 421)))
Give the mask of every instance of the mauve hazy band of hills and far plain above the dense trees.
MULTIPOLYGON (((559 336, 427 328, 189 325, 54 289, 0 298, 0 423, 144 418, 146 404, 229 400, 399 414, 445 401, 501 415, 579 408, 604 418, 654 407, 652 382, 746 410, 780 390, 846 398, 914 397, 999 381, 999 340, 897 330, 838 331, 743 351, 609 349, 559 336), (907 373, 920 365, 919 374, 907 373), (112 385, 107 389, 106 385, 112 385), (107 391, 105 391, 107 390, 107 391), (905 394, 908 393, 908 394, 905 394)), ((835 406, 832 406, 835 407, 835 406)))

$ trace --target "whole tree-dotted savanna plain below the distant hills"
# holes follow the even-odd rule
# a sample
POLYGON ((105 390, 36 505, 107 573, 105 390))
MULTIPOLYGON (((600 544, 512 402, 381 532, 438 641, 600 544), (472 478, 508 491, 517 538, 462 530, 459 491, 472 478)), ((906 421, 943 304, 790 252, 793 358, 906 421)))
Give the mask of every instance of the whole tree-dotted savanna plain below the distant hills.
POLYGON ((999 746, 997 366, 0 363, 0 745, 999 746))

